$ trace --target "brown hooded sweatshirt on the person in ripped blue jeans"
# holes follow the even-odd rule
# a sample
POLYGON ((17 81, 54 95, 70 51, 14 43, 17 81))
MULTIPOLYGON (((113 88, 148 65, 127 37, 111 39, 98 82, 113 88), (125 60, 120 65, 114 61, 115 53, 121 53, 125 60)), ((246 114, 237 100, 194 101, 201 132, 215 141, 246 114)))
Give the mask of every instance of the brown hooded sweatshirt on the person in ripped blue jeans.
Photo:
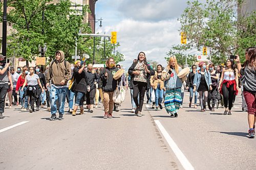
MULTIPOLYGON (((65 67, 64 52, 62 52, 62 51, 57 51, 57 52, 60 53, 60 60, 57 61, 56 59, 54 59, 52 61, 53 63, 50 63, 46 80, 47 80, 47 82, 51 81, 51 84, 55 85, 55 86, 65 86, 65 85, 67 85, 68 80, 71 78, 71 67, 70 67, 70 63, 68 61, 66 62, 67 66, 65 67), (60 82, 62 80, 65 80, 64 85, 60 84, 60 82)), ((56 55, 56 53, 55 53, 55 55, 56 55)))

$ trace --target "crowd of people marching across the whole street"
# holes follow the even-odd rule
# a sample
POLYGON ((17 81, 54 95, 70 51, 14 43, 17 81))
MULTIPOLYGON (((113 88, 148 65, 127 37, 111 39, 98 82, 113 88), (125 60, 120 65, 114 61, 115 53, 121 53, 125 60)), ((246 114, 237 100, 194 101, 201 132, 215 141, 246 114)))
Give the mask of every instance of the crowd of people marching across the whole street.
POLYGON ((21 105, 21 110, 39 111, 41 105, 47 105, 51 112, 50 120, 63 119, 65 101, 69 104, 69 113, 73 116, 84 113, 84 103, 87 112, 93 113, 100 101, 104 106, 103 118, 112 118, 113 111, 119 111, 120 103, 113 100, 115 90, 120 86, 130 87, 132 112, 142 116, 144 96, 147 104, 159 110, 164 108, 170 117, 178 117, 182 108, 184 90, 189 95, 189 107, 197 108, 200 101, 201 112, 207 107, 215 111, 216 105, 224 105, 224 115, 231 115, 231 109, 238 90, 242 90, 242 110, 248 111, 249 138, 255 137, 256 122, 256 48, 249 47, 245 51, 245 62, 241 64, 240 57, 227 59, 225 66, 215 66, 211 62, 200 62, 182 69, 176 57, 169 58, 166 67, 157 65, 156 70, 146 61, 146 55, 140 52, 128 70, 128 75, 120 73, 121 66, 114 58, 108 58, 104 68, 93 69, 92 64, 86 66, 83 61, 69 63, 62 51, 57 51, 55 59, 42 72, 40 66, 9 67, 0 56, 0 119, 3 119, 6 94, 9 107, 21 105), (19 98, 17 98, 17 94, 19 98), (12 97, 13 96, 13 97, 12 97), (14 101, 12 101, 14 98, 14 101), (194 104, 193 103, 194 98, 194 104), (34 103, 36 109, 34 109, 34 103), (207 105, 207 107, 206 107, 207 105), (79 109, 79 113, 77 110, 79 109))

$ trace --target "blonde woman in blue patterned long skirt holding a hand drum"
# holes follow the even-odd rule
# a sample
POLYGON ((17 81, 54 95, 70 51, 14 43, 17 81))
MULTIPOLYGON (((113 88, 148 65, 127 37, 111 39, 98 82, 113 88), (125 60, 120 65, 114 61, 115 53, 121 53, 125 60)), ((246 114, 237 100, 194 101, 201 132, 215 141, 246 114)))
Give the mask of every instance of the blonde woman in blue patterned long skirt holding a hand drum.
POLYGON ((181 68, 179 67, 176 57, 172 56, 169 59, 168 65, 165 68, 165 87, 166 93, 164 98, 164 106, 170 117, 178 117, 178 110, 182 103, 181 87, 182 81, 178 77, 181 68))

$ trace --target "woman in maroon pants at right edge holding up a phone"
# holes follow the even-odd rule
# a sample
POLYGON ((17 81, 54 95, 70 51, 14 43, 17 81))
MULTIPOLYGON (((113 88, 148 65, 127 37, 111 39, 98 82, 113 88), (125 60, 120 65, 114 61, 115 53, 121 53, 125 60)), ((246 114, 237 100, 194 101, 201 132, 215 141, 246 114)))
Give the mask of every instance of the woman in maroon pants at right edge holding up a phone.
POLYGON ((243 76, 243 94, 248 110, 248 137, 255 137, 255 122, 256 122, 256 47, 248 47, 245 51, 244 67, 241 66, 240 58, 237 55, 238 72, 243 76))

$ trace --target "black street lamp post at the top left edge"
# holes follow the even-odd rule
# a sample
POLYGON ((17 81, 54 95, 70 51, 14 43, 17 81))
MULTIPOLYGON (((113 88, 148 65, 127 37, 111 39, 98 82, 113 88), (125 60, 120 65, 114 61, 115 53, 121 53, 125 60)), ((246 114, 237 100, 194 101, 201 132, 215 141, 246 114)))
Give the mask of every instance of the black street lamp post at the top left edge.
POLYGON ((2 54, 6 58, 7 45, 7 0, 4 0, 2 54))

